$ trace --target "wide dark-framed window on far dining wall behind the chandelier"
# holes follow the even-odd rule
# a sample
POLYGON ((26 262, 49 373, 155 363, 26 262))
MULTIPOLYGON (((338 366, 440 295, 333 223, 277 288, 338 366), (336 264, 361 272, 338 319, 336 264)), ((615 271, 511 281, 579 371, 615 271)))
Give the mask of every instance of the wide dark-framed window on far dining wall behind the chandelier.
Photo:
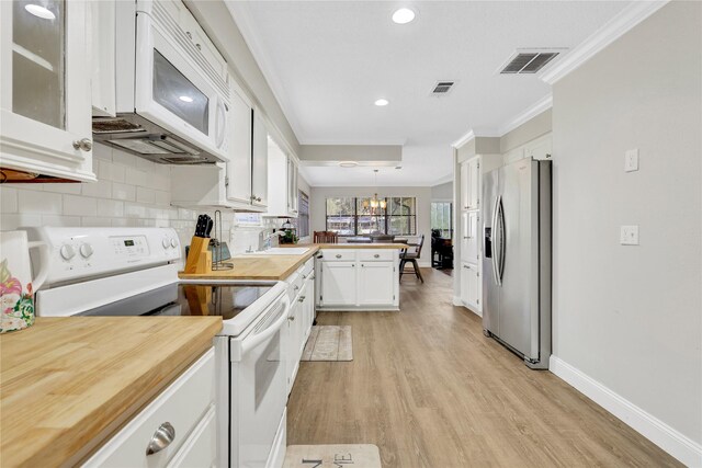
POLYGON ((388 233, 415 236, 417 233, 417 199, 388 197, 385 208, 373 208, 371 197, 327 198, 327 230, 339 236, 367 236, 388 233))

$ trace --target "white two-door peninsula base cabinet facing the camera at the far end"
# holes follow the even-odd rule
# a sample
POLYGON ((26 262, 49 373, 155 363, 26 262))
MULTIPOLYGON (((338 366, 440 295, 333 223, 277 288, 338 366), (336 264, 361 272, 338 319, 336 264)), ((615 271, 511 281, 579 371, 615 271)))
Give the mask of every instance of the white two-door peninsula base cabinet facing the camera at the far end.
POLYGON ((399 253, 395 249, 325 249, 318 262, 322 310, 397 310, 399 253))

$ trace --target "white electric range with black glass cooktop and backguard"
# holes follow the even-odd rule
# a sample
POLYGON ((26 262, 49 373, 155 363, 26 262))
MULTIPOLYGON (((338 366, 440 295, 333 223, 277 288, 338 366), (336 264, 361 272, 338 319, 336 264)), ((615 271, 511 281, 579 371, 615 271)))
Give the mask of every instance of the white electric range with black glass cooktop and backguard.
POLYGON ((179 281, 182 248, 170 228, 26 228, 48 244, 39 317, 220 316, 215 336, 218 465, 280 467, 285 455, 281 282, 179 281))

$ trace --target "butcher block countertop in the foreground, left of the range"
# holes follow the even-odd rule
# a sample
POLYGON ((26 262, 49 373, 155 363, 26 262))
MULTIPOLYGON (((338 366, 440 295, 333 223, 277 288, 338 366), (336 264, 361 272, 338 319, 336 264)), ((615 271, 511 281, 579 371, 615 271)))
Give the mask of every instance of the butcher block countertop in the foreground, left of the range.
POLYGON ((39 317, 0 335, 0 463, 79 463, 208 350, 220 329, 219 317, 39 317))

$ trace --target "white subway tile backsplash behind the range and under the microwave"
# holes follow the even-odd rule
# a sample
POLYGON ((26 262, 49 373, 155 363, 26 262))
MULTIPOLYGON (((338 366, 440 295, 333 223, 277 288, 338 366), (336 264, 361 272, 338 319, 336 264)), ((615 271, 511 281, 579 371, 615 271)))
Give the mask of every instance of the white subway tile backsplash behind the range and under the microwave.
MULTIPOLYGON (((94 146, 93 164, 97 183, 0 185, 0 229, 172 227, 182 246, 190 243, 197 215, 205 212, 170 205, 170 167, 104 145, 94 146)), ((236 237, 233 221, 231 212, 223 213, 223 236, 230 242, 236 237)))

